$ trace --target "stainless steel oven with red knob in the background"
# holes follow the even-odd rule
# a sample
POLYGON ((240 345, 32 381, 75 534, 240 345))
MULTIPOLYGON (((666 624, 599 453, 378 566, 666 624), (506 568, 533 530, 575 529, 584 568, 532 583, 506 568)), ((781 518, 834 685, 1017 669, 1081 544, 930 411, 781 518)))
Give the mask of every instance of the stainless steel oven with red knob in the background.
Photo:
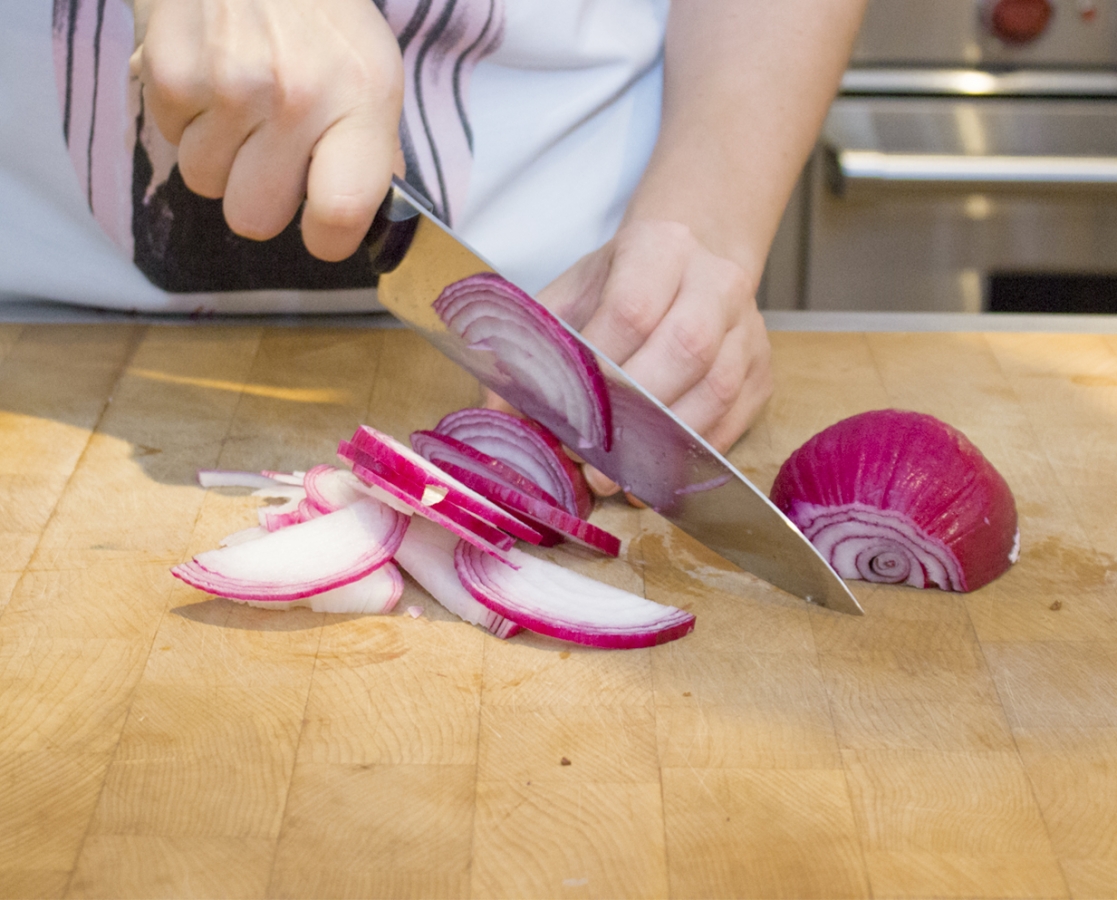
POLYGON ((1117 312, 1117 0, 870 0, 762 304, 1117 312))

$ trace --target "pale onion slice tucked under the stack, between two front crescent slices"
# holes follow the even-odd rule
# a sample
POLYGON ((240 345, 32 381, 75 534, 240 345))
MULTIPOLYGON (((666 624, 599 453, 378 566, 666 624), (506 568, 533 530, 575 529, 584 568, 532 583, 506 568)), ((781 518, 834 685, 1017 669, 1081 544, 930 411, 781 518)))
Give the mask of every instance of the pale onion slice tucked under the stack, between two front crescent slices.
POLYGON ((478 603, 462 586, 454 566, 458 538, 446 528, 417 517, 395 550, 395 562, 459 619, 480 625, 497 638, 510 638, 521 630, 519 625, 478 603))

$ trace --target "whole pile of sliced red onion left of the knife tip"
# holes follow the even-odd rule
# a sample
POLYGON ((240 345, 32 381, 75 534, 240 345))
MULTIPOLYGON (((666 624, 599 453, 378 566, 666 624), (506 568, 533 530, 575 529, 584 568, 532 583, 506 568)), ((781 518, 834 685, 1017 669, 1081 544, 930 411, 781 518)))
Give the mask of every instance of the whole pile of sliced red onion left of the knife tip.
POLYGON ((269 609, 386 613, 402 567, 451 613, 499 638, 521 629, 601 648, 651 647, 694 629, 690 613, 518 549, 575 542, 617 556, 586 520, 581 470, 535 422, 461 410, 411 447, 362 425, 338 446, 347 468, 199 472, 202 487, 279 500, 258 524, 172 573, 207 593, 269 609))

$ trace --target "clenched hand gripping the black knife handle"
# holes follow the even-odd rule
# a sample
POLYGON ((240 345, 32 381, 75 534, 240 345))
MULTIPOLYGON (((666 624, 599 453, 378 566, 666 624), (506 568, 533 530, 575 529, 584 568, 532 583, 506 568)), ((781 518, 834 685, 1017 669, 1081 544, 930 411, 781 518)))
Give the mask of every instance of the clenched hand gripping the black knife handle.
POLYGON ((303 211, 321 259, 351 256, 402 173, 403 64, 370 0, 135 0, 132 71, 190 190, 238 234, 303 211))

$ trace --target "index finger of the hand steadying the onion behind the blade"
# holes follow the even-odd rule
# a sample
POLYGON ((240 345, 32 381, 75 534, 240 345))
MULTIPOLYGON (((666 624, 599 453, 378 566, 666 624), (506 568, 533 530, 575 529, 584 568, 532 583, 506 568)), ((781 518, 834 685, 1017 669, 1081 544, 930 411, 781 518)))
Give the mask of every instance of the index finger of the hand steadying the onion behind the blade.
POLYGON ((689 231, 660 223, 630 228, 618 242, 601 303, 582 335, 623 365, 667 315, 685 270, 689 231))

